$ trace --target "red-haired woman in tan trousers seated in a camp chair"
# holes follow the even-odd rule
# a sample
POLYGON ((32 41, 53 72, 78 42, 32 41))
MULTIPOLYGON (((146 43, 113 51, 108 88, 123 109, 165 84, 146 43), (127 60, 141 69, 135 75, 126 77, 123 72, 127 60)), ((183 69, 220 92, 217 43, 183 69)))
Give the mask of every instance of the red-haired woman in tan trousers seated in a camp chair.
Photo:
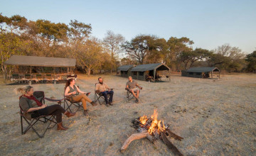
MULTIPOLYGON (((86 117, 88 117, 89 114, 86 108, 86 101, 90 102, 92 106, 97 106, 97 104, 95 103, 95 101, 92 101, 91 99, 89 99, 85 94, 86 92, 80 91, 80 89, 77 86, 75 86, 75 79, 68 79, 65 85, 65 96, 71 96, 70 99, 72 101, 82 102, 82 107, 84 108, 83 113, 85 114, 86 117), (79 95, 79 93, 81 94, 79 95)), ((87 95, 89 94, 90 93, 88 93, 87 95)))

